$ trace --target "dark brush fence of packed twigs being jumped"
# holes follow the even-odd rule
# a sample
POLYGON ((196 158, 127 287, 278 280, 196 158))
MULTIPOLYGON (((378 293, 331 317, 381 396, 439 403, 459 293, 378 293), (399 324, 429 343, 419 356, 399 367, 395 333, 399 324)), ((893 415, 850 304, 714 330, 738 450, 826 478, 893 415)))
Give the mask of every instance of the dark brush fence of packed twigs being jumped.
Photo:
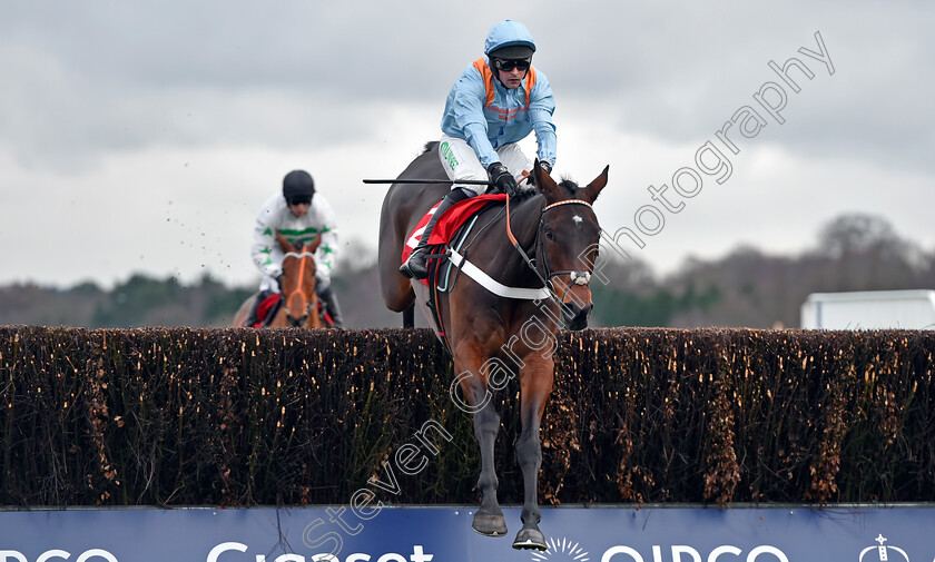
MULTIPOLYGON (((542 501, 933 501, 934 355, 933 332, 562 333, 542 501)), ((0 504, 470 503, 453 375, 429 331, 2 327, 0 504)))

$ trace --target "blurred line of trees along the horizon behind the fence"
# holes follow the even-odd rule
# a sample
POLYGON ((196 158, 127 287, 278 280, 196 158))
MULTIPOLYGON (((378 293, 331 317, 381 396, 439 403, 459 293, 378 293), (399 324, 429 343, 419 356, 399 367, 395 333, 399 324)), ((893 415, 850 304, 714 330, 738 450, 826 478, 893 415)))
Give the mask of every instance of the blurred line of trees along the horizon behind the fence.
MULTIPOLYGON (((799 306, 810 293, 935 288, 935 248, 900 237, 884 218, 843 215, 796 256, 741 245, 720 259, 689 259, 665 277, 639 260, 604 272, 609 285, 592 283, 594 326, 797 327, 799 306)), ((401 325, 383 306, 368 260, 339 269, 334 283, 348 327, 401 325)), ((254 290, 209 276, 184 286, 134 275, 110 290, 94 284, 11 285, 0 287, 0 325, 227 326, 254 290)))

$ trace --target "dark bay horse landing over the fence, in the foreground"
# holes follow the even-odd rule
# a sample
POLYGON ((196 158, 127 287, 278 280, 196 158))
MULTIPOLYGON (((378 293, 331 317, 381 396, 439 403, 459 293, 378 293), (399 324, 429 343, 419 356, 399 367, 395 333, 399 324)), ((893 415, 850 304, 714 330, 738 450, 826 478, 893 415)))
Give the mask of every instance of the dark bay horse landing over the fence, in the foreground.
MULTIPOLYGON (((429 144, 397 180, 447 179, 437 150, 437 142, 429 144)), ((494 278, 493 285, 485 282, 492 288, 465 273, 468 264, 462 264, 453 274, 454 286, 445 293, 436 292, 439 337, 451 351, 457 373, 451 387, 452 400, 473 414, 474 436, 481 451, 478 487, 482 500, 472 528, 489 536, 506 533, 496 500, 493 456, 500 414, 492 404, 491 390, 502 390, 519 372, 522 431, 516 459, 524 492, 523 526, 513 541, 514 549, 547 549, 539 530, 540 424, 554 381, 552 354, 558 346, 559 326, 584 328, 593 307, 588 283, 598 258, 600 226, 591 204, 607 185, 608 169, 579 188, 570 180, 557 184, 537 161, 532 172, 535 190, 513 197, 506 207, 485 207, 478 215, 479 226, 461 245, 460 254, 494 278)), ((450 184, 393 184, 380 217, 383 299, 391 310, 410 314, 415 304, 430 325, 436 325, 426 306, 432 285, 407 279, 398 267, 410 233, 449 189, 450 184)), ((460 254, 452 254, 452 259, 459 260, 460 254)))

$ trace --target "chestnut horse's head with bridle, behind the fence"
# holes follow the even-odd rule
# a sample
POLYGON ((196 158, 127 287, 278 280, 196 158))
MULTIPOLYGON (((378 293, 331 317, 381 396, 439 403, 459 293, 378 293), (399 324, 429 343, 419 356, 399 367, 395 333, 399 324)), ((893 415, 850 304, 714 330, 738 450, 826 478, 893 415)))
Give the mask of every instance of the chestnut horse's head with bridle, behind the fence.
POLYGON ((282 234, 276 235, 283 259, 283 306, 291 326, 318 326, 315 295, 315 250, 322 243, 322 235, 299 247, 282 234), (312 321, 309 323, 309 319, 312 321))

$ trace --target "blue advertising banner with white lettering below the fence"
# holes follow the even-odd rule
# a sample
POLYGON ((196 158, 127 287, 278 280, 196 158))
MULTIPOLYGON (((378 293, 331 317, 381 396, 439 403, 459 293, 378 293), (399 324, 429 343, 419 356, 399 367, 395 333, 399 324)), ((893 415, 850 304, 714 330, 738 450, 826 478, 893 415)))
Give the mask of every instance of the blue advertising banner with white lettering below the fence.
POLYGON ((543 509, 545 552, 504 512, 492 539, 450 506, 6 511, 0 562, 935 561, 935 506, 543 509))

